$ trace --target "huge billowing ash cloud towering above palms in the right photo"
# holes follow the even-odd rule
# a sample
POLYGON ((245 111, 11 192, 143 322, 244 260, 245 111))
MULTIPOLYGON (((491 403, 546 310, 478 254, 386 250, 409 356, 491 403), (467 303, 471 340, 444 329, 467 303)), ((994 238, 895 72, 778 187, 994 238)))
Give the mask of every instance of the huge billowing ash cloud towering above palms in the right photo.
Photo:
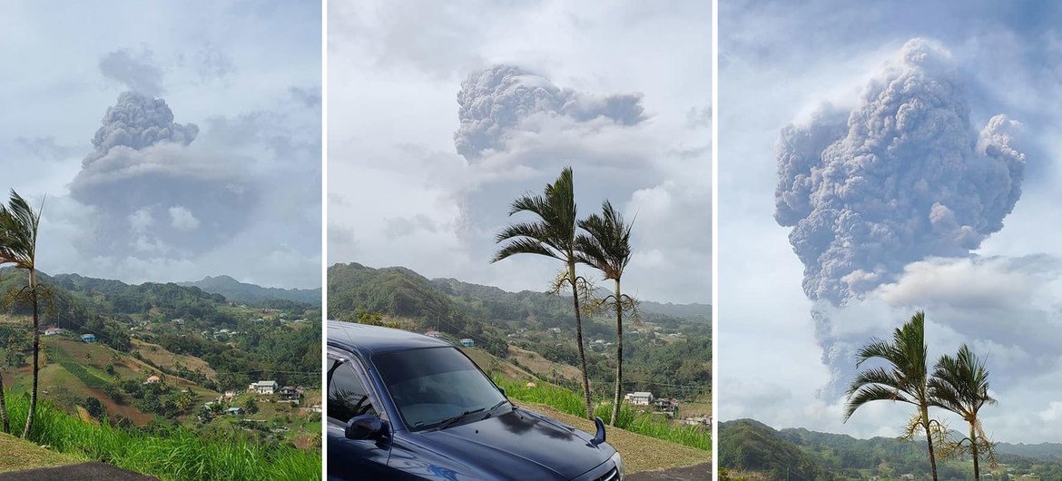
POLYGON ((849 113, 782 131, 775 220, 793 227, 804 292, 843 305, 910 262, 962 257, 1003 228, 1022 192, 1021 124, 972 127, 963 80, 935 42, 908 41, 849 113))

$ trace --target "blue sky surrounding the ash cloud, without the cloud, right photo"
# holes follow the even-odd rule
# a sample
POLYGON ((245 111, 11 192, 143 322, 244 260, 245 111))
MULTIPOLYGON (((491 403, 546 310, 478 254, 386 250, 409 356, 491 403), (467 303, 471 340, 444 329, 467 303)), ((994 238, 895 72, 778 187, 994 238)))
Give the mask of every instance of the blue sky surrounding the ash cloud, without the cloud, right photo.
POLYGON ((842 424, 837 386, 854 368, 853 346, 889 336, 921 308, 931 358, 961 343, 987 356, 999 399, 982 411, 990 435, 1062 441, 1062 347, 1044 341, 1062 329, 1062 8, 735 1, 719 12, 720 418, 900 434, 910 414, 903 406, 869 406, 842 424), (788 124, 815 125, 824 103, 845 116, 861 108, 861 96, 898 68, 913 38, 944 52, 969 107, 971 145, 997 114, 1021 123, 1011 139, 1025 155, 1021 197, 973 251, 917 257, 841 307, 816 303, 802 290, 790 228, 773 219, 776 142, 788 124), (818 337, 812 308, 828 319, 818 337))

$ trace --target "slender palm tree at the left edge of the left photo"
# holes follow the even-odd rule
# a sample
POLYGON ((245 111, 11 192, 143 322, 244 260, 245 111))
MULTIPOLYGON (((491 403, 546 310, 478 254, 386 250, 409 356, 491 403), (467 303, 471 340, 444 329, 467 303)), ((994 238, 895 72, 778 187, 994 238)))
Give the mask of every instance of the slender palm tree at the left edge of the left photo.
MULTIPOLYGON (((44 205, 41 205, 44 208, 44 205)), ((0 205, 0 264, 14 264, 30 273, 28 294, 33 307, 33 386, 30 390, 30 412, 25 416, 22 437, 30 436, 33 416, 37 409, 37 379, 40 368, 40 320, 37 305, 37 227, 40 210, 36 212, 18 192, 11 191, 7 207, 0 205)))

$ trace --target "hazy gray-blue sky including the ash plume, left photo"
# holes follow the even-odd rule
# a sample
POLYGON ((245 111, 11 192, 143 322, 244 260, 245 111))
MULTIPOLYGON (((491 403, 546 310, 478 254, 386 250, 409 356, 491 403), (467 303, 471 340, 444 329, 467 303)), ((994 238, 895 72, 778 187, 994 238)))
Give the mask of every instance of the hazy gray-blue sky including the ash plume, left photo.
POLYGON ((320 4, 3 10, 0 188, 44 201, 42 272, 321 286, 320 4))

